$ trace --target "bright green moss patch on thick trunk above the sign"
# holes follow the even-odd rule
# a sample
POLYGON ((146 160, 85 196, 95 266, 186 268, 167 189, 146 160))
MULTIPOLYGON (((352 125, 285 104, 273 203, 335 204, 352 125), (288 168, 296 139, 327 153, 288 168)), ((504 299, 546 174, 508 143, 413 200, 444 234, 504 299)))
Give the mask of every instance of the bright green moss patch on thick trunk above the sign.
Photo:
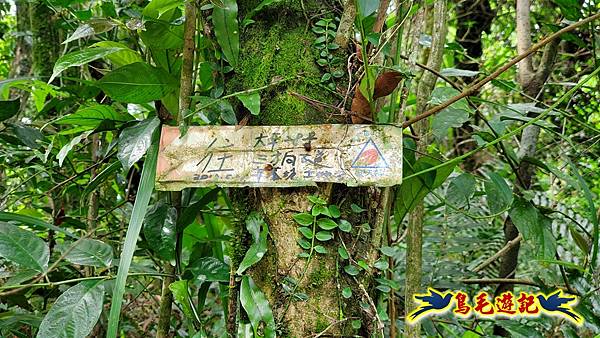
MULTIPOLYGON (((290 3, 299 3, 287 1, 290 3)), ((287 3, 286 2, 286 3, 287 3)), ((289 8, 288 8, 289 10, 289 8)), ((282 15, 283 16, 283 15, 282 15)), ((255 124, 296 125, 332 122, 306 100, 332 104, 338 99, 320 84, 321 70, 313 48, 316 36, 298 20, 257 22, 242 34, 239 66, 228 81, 228 92, 258 88, 290 79, 261 91, 261 113, 255 124)), ((238 105, 238 107, 240 107, 238 105)))

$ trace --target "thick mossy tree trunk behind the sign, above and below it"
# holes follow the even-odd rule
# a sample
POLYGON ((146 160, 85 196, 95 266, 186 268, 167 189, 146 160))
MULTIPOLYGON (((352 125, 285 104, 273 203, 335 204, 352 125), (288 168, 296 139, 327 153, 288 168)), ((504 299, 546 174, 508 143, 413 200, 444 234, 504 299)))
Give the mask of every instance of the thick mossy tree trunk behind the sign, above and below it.
MULTIPOLYGON (((251 11, 260 1, 238 1, 240 13, 251 11)), ((317 50, 313 47, 317 38, 311 26, 320 18, 330 17, 335 13, 334 1, 281 1, 268 6, 253 17, 256 20, 241 32, 240 62, 235 69, 235 75, 226 83, 231 92, 258 88, 272 83, 273 80, 290 79, 280 82, 261 92, 261 112, 258 118, 251 120, 256 125, 301 125, 322 123, 345 123, 345 118, 332 117, 326 111, 309 100, 310 98, 329 105, 336 105, 342 99, 341 94, 328 91, 320 84, 321 70, 316 64, 317 50), (307 18, 313 20, 307 22, 307 18), (299 94, 299 95, 297 95, 299 94)), ((341 13, 341 11, 338 11, 341 13)), ((344 51, 339 51, 343 59, 344 51)), ((345 68, 345 62, 341 63, 345 68)), ((347 83, 339 85, 345 88, 347 83)), ((340 89, 339 92, 343 92, 340 89)), ((240 110, 243 109, 240 107, 240 110)), ((244 112, 240 111, 243 117, 244 112)), ((371 188, 372 189, 372 188, 371 188)), ((359 304, 372 303, 368 292, 372 275, 357 278, 345 274, 343 267, 348 264, 337 254, 337 247, 343 240, 353 245, 351 256, 358 260, 370 261, 373 252, 380 243, 373 243, 372 233, 362 233, 357 236, 339 237, 320 243, 325 246, 328 254, 313 256, 306 266, 306 259, 298 258, 303 250, 298 244, 300 238, 298 225, 292 216, 296 213, 310 210, 309 195, 320 195, 332 204, 338 204, 342 209, 342 217, 353 221, 355 225, 374 220, 375 211, 353 214, 350 205, 356 203, 365 209, 370 209, 366 188, 346 188, 343 185, 322 184, 316 188, 289 189, 236 189, 231 191, 236 218, 239 221, 238 230, 245 231, 243 220, 250 210, 262 212, 269 225, 270 241, 267 254, 249 271, 256 284, 266 294, 273 309, 278 324, 279 335, 287 337, 310 337, 326 330, 328 335, 370 335, 376 323, 372 309, 361 310, 359 304), (297 283, 296 294, 308 296, 306 300, 290 297, 285 291, 284 284, 297 283), (361 283, 362 290, 359 287, 361 283), (349 300, 341 296, 341 290, 349 286, 353 298, 349 300), (351 326, 352 319, 361 319, 362 327, 355 330, 351 326)), ((375 201, 376 202, 376 201, 375 201)), ((379 208, 378 210, 382 210, 379 208)), ((372 224, 372 223, 371 223, 372 224)), ((345 236, 345 234, 344 234, 345 236)), ((242 243, 233 243, 234 248, 243 244, 244 236, 236 234, 242 243)), ((381 236, 376 238, 380 241, 381 236)), ((243 251, 235 249, 235 252, 243 251)), ((232 262, 239 263, 242 252, 234 252, 232 262)), ((234 292, 235 293, 235 292, 234 292)))

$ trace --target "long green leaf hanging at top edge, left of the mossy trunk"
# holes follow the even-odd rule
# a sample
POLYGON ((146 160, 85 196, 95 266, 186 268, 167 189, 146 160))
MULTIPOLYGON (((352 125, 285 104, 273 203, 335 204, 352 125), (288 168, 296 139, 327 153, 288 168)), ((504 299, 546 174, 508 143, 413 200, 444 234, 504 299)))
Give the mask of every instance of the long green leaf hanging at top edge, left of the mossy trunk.
POLYGON ((229 64, 237 67, 240 54, 240 33, 237 21, 236 0, 223 0, 223 7, 215 7, 212 13, 215 36, 229 64))

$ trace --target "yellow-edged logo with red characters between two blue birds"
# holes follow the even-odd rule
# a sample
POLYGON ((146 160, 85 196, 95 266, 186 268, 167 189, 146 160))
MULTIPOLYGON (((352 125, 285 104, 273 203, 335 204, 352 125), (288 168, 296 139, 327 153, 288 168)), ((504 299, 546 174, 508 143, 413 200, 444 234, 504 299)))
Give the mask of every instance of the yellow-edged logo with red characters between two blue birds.
POLYGON ((462 291, 438 291, 428 288, 427 293, 414 295, 419 306, 408 317, 409 324, 415 324, 423 318, 452 314, 469 318, 537 318, 541 315, 566 319, 575 325, 583 324, 583 317, 573 307, 577 304, 576 296, 567 295, 562 290, 550 294, 520 292, 504 292, 498 297, 491 297, 487 292, 479 292, 473 300, 462 291))

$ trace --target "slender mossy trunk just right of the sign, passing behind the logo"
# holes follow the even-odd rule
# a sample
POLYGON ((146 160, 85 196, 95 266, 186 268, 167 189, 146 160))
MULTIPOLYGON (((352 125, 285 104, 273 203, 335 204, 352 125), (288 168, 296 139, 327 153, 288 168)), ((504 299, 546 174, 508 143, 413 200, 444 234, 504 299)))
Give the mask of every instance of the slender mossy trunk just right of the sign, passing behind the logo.
MULTIPOLYGON (((427 67, 439 70, 442 63, 444 44, 446 41, 447 30, 447 2, 445 0, 436 1, 431 14, 432 42, 429 55, 427 57, 427 67)), ((419 20, 419 16, 415 17, 419 20)), ((423 19, 425 19, 423 17, 423 19)), ((417 114, 424 111, 429 101, 429 96, 435 87, 437 77, 431 72, 423 72, 417 87, 417 114)), ((417 141, 416 153, 426 153, 429 133, 429 123, 427 120, 419 121, 414 126, 414 132, 419 137, 417 141)), ((406 303, 405 314, 413 311, 417 304, 413 295, 421 291, 422 279, 422 247, 423 247, 423 224, 425 220, 425 207, 423 201, 420 201, 408 216, 408 233, 406 236, 406 303)), ((420 337, 420 325, 406 324, 406 337, 420 337)))

